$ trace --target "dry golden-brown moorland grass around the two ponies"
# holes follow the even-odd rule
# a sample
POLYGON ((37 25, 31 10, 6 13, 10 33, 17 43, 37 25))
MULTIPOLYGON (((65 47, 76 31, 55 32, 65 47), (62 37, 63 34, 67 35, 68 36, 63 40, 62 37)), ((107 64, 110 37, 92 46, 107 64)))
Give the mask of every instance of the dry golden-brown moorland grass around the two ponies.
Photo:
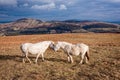
POLYGON ((120 80, 120 34, 47 34, 0 37, 0 80, 120 80), (90 46, 90 63, 67 62, 62 50, 45 52, 45 61, 22 63, 20 44, 44 40, 85 43, 90 46))

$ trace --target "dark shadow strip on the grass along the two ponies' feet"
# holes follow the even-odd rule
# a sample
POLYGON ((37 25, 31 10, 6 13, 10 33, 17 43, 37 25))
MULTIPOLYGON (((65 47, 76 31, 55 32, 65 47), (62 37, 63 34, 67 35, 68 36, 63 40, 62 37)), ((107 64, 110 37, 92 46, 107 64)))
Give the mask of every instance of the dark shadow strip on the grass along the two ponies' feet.
MULTIPOLYGON (((13 60, 17 62, 22 62, 22 56, 20 55, 0 55, 0 60, 13 60)), ((29 56, 30 60, 34 61, 36 57, 29 56)), ((41 57, 39 57, 38 61, 42 61, 41 57)), ((53 62, 67 62, 63 59, 57 59, 57 58, 45 58, 45 61, 53 61, 53 62)))

